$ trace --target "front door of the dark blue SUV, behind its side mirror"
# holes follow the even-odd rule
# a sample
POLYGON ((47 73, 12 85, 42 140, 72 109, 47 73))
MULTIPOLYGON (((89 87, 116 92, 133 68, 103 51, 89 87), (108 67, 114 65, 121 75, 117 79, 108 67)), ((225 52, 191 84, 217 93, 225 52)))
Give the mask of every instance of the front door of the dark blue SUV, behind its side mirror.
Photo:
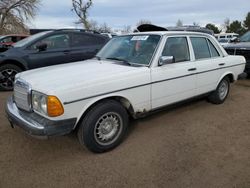
POLYGON ((70 36, 67 33, 53 34, 39 40, 27 49, 29 68, 38 68, 70 62, 70 36), (43 51, 37 49, 39 44, 47 44, 43 51))

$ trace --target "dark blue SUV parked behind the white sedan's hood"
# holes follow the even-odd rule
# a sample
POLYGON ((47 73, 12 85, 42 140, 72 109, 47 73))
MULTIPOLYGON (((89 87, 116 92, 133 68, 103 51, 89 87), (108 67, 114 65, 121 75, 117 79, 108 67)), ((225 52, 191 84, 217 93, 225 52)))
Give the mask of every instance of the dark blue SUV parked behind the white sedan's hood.
POLYGON ((90 59, 109 40, 84 30, 53 30, 32 35, 0 53, 0 90, 12 90, 18 72, 90 59))

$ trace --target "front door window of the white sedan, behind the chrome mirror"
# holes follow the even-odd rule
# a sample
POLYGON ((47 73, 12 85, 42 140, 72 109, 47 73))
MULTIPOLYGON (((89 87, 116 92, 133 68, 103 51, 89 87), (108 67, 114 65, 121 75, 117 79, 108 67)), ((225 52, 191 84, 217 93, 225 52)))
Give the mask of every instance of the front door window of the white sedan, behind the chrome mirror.
POLYGON ((190 61, 187 38, 168 38, 163 49, 162 56, 173 56, 175 62, 190 61))

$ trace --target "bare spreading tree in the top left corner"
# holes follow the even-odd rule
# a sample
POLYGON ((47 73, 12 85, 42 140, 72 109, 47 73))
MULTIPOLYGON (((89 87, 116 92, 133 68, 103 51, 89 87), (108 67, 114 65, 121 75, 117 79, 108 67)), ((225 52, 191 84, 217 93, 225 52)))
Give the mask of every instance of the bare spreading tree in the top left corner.
POLYGON ((1 0, 0 33, 27 32, 25 22, 36 15, 40 0, 1 0))

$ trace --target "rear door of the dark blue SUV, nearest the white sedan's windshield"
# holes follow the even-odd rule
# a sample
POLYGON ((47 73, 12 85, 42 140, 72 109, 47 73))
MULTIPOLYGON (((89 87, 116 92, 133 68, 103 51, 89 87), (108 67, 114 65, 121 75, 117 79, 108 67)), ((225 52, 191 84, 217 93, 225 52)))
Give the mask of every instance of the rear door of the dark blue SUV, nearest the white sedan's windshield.
POLYGON ((90 33, 73 33, 71 42, 71 61, 81 61, 93 58, 104 46, 106 39, 90 33))

